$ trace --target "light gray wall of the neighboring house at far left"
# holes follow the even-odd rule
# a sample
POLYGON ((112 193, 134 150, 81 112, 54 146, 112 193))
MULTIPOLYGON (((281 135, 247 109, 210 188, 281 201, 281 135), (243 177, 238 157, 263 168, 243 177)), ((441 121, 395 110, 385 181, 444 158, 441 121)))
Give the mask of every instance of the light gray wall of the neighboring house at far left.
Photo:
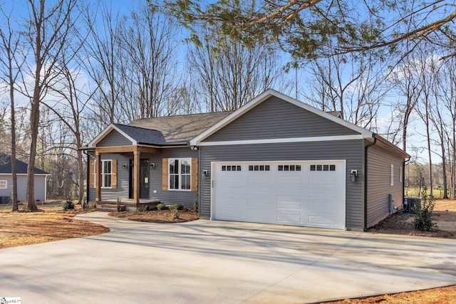
MULTIPOLYGON (((0 180, 6 180, 6 189, 0 189, 0 196, 9 196, 13 187, 13 178, 11 175, 0 175, 0 180)), ((18 201, 25 201, 27 189, 27 176, 17 176, 17 199, 18 201)), ((46 176, 35 174, 35 192, 36 201, 45 201, 46 199, 46 176)))

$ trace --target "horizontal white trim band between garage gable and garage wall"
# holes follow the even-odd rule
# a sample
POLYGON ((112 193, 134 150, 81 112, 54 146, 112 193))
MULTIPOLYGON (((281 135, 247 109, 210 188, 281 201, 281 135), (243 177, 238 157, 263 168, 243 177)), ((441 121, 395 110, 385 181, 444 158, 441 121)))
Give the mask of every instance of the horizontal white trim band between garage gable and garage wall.
POLYGON ((285 142, 333 142, 338 140, 362 140, 363 135, 336 135, 318 137, 267 138, 264 140, 227 140, 223 142, 200 142, 199 146, 259 145, 285 142))

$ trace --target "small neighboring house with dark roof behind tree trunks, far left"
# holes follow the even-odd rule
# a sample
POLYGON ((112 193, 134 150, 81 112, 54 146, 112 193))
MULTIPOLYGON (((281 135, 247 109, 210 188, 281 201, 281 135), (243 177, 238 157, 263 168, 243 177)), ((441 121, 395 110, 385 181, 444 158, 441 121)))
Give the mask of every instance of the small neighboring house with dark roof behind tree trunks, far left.
MULTIPOLYGON (((28 164, 16 160, 17 199, 25 201, 27 189, 28 164)), ((35 168, 35 199, 46 201, 46 178, 48 172, 35 168)), ((13 175, 11 174, 11 156, 0 152, 0 203, 10 201, 13 192, 13 175)))

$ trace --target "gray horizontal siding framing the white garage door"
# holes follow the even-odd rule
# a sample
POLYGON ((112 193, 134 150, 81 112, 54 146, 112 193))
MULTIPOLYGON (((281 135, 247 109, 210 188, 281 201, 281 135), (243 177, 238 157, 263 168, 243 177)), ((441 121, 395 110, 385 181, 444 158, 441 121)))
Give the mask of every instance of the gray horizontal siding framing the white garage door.
MULTIPOLYGON (((346 159, 346 227, 361 229, 363 220, 363 140, 335 142, 303 142, 268 145, 204 146, 201 150, 200 172, 211 170, 211 162, 330 160, 346 159), (351 169, 358 170, 358 180, 350 182, 351 169)), ((210 216, 210 179, 199 183, 200 216, 210 216)))

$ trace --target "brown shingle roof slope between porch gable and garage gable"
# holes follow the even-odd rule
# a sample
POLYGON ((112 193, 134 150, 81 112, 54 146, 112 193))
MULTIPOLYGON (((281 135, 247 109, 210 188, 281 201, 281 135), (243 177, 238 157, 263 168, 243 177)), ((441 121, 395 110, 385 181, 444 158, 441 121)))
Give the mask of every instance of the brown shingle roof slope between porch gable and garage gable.
MULTIPOLYGON (((167 145, 187 144, 232 112, 213 112, 133 120, 128 126, 161 132, 167 145)), ((158 145, 158 144, 157 144, 158 145)))

